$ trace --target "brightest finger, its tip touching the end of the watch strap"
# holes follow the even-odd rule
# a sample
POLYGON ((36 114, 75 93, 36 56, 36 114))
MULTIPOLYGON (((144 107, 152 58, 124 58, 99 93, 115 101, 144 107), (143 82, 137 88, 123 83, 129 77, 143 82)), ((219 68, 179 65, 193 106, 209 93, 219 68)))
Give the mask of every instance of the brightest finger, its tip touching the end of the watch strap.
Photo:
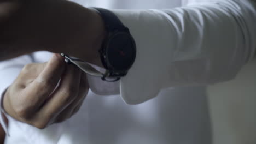
POLYGON ((21 98, 27 111, 36 111, 55 89, 65 69, 65 62, 60 55, 53 55, 42 73, 22 91, 21 98), (29 102, 29 103, 28 103, 29 102), (29 104, 29 105, 28 105, 29 104))

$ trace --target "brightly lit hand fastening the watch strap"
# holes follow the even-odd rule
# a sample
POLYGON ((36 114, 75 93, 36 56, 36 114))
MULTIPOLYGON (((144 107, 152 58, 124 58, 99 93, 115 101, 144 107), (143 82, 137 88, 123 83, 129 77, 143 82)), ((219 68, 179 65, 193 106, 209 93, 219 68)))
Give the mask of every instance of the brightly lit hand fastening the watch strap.
POLYGON ((65 66, 63 58, 55 54, 48 63, 32 63, 22 69, 4 94, 3 107, 18 121, 43 129, 74 115, 88 88, 86 75, 74 65, 65 66))

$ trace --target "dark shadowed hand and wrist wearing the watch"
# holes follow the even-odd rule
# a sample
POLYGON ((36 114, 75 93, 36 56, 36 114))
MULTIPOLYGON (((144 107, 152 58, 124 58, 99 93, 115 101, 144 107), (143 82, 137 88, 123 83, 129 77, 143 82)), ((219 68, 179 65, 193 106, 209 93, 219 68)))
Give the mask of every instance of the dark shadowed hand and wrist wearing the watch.
POLYGON ((43 50, 101 66, 105 29, 95 11, 64 0, 6 0, 0 9, 0 61, 43 50))

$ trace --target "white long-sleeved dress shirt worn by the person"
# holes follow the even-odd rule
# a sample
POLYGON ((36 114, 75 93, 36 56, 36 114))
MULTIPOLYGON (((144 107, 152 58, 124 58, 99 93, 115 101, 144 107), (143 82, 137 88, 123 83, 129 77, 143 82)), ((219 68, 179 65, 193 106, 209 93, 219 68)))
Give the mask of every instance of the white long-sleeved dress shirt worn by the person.
MULTIPOLYGON (((135 38, 135 63, 120 82, 89 76, 84 104, 63 123, 39 130, 8 116, 5 142, 211 143, 204 86, 233 79, 253 57, 254 2, 188 1, 179 8, 173 8, 182 4, 178 0, 77 2, 112 9, 135 38)), ((35 52, 1 62, 0 92, 24 65, 50 56, 35 52)))

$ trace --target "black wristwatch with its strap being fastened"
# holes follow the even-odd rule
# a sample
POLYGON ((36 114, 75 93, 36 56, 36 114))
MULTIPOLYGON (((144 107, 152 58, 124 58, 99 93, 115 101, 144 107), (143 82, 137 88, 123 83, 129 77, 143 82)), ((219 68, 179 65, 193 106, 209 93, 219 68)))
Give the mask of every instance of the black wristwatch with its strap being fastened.
POLYGON ((118 81, 125 76, 132 67, 136 58, 136 43, 130 34, 129 28, 125 27, 118 17, 107 9, 92 8, 102 17, 107 31, 100 50, 101 62, 106 69, 104 73, 96 70, 90 64, 80 61, 75 57, 65 57, 67 63, 73 63, 85 73, 101 77, 104 81, 118 81))

